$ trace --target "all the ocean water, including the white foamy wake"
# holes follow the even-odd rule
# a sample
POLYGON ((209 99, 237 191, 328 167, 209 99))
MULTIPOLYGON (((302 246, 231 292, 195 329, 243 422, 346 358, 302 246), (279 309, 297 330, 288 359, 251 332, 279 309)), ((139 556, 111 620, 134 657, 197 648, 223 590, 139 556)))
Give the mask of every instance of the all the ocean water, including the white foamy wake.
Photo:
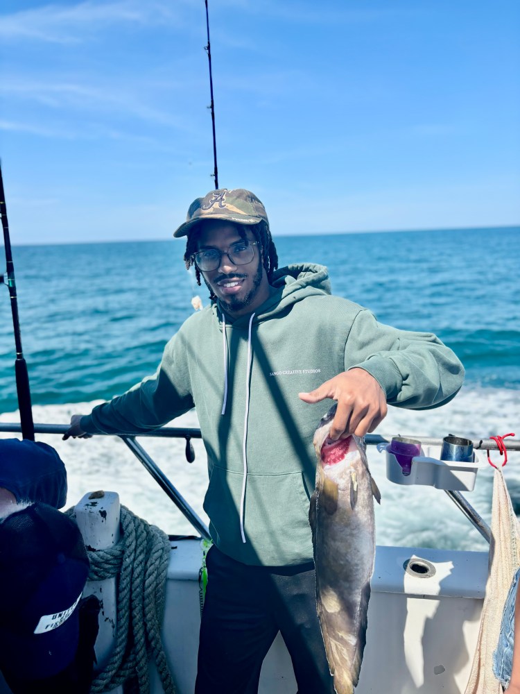
MULTIPOLYGON (((370 308, 383 323, 435 332, 465 364, 465 385, 451 403, 425 412, 390 408, 381 434, 455 433, 475 439, 516 432, 520 437, 520 228, 279 237, 276 243, 280 266, 327 265, 334 294, 370 308)), ((155 371, 164 344, 193 311, 193 294, 207 303, 207 290, 196 287, 184 269, 183 252, 184 244, 171 239, 13 246, 36 422, 68 423, 71 414, 89 412, 155 371)), ((6 422, 19 421, 14 360, 5 290, 0 420, 6 422)), ((175 423, 196 426, 196 412, 175 423)), ((94 489, 118 491, 123 504, 167 532, 192 532, 119 439, 37 438, 55 446, 67 465, 70 505, 94 489)), ((141 443, 207 522, 202 443, 194 441, 193 464, 184 459, 180 441, 141 443)), ((373 447, 369 460, 382 496, 378 543, 485 549, 444 492, 388 482, 383 454, 373 447)), ((520 454, 511 453, 504 471, 520 511, 519 465, 520 454)), ((482 456, 476 489, 467 498, 488 522, 492 479, 482 456)))

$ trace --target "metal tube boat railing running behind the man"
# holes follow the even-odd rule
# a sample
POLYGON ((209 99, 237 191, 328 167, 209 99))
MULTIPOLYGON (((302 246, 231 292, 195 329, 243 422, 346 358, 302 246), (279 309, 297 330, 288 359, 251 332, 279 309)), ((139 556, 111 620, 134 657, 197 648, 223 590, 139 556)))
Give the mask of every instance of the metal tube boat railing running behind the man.
MULTIPOLYGON (((67 424, 36 424, 34 425, 35 434, 58 434, 63 435, 69 429, 67 424)), ((21 432, 21 425, 19 423, 6 423, 0 422, 0 432, 18 434, 21 432)), ((155 482, 163 489, 163 491, 168 495, 168 497, 173 501, 175 506, 181 511, 185 518, 193 525, 193 527, 200 533, 200 536, 205 539, 209 539, 209 530, 207 525, 205 525, 202 518, 198 516, 196 511, 194 511, 187 500, 184 499, 180 491, 172 484, 171 480, 164 472, 159 468, 157 463, 150 457, 148 452, 145 450, 139 441, 136 441, 135 436, 127 436, 125 434, 96 434, 96 436, 113 436, 116 435, 124 441, 126 446, 132 451, 132 453, 137 457, 139 462, 146 468, 148 473, 153 477, 155 482)), ((202 434, 200 429, 196 428, 182 428, 182 427, 163 427, 154 431, 139 434, 139 437, 160 437, 166 439, 185 439, 186 440, 186 455, 189 462, 193 462, 195 457, 193 449, 191 448, 191 439, 202 439, 202 434)), ((390 443, 392 437, 381 436, 380 434, 367 434, 365 436, 365 442, 367 446, 381 446, 385 443, 390 443)), ((414 439, 420 441, 424 446, 441 446, 442 439, 437 439, 433 437, 416 437, 414 439)), ((474 450, 499 450, 499 445, 494 441, 494 439, 476 439, 472 441, 474 450)), ((504 441, 505 448, 508 450, 520 450, 520 440, 513 439, 509 441, 504 441)), ((447 495, 456 504, 456 506, 462 511, 462 513, 468 518, 476 530, 489 542, 491 540, 491 530, 489 525, 483 520, 483 518, 478 514, 478 512, 469 504, 467 499, 462 496, 458 491, 446 491, 447 495)))

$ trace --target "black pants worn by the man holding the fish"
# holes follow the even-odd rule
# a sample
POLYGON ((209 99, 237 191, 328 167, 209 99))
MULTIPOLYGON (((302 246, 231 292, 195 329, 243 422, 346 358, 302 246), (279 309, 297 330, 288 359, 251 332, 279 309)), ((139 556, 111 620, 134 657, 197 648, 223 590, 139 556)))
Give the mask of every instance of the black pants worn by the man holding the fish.
POLYGON ((256 693, 262 661, 278 632, 291 654, 298 694, 333 694, 316 614, 314 565, 246 566, 216 547, 206 564, 196 694, 256 693))

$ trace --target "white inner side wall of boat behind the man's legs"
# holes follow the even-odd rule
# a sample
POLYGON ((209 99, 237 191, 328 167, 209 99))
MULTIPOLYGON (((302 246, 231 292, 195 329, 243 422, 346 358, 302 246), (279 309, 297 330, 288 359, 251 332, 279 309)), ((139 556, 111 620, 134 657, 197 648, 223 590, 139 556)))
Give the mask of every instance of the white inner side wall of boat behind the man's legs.
MULTIPOLYGON (((180 694, 193 692, 200 625, 200 542, 173 543, 163 642, 180 694)), ((356 694, 457 694, 465 690, 487 578, 486 552, 378 547, 367 645, 356 694), (420 570, 407 573, 410 559, 420 570)), ((155 690, 161 692, 158 679, 155 690)), ((261 674, 261 694, 295 694, 291 659, 277 637, 261 674)))

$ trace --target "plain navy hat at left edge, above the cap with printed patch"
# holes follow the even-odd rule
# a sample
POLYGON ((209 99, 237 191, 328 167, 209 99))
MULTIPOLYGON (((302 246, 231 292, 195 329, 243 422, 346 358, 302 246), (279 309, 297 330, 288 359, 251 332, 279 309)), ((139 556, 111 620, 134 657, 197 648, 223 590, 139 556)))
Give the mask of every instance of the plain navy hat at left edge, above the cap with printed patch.
POLYGON ((0 486, 12 491, 17 502, 42 502, 55 509, 67 502, 65 466, 42 441, 0 439, 0 486))

